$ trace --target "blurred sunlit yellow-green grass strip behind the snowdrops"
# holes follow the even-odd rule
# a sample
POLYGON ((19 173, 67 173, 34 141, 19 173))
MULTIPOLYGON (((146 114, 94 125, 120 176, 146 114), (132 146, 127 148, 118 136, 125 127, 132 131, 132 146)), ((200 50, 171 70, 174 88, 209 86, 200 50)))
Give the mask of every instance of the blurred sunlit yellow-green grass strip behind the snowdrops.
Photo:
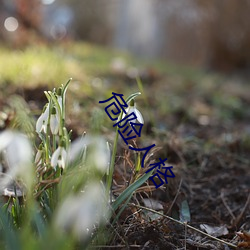
MULTIPOLYGON (((118 52, 85 43, 63 46, 30 46, 13 50, 0 46, 0 83, 16 85, 56 85, 72 77, 86 81, 87 77, 106 72, 118 52)), ((126 56, 125 56, 126 57, 126 56)))

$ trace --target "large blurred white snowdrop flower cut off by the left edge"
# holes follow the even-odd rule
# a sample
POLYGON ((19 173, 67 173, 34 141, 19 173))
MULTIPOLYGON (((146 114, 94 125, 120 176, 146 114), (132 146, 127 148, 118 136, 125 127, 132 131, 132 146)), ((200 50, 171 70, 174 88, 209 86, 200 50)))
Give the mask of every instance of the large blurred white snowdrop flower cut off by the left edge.
POLYGON ((8 167, 0 188, 6 187, 17 177, 21 177, 27 186, 32 185, 33 153, 28 138, 21 133, 6 130, 0 133, 0 152, 8 167))

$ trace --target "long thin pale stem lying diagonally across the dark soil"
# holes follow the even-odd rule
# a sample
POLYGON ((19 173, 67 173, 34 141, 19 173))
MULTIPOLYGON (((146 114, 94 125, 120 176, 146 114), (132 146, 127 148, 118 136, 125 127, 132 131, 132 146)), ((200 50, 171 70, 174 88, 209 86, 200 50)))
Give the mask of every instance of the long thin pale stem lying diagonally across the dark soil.
MULTIPOLYGON (((171 220, 171 221, 174 221, 174 222, 176 222, 176 223, 178 223, 178 224, 181 224, 181 225, 185 226, 185 222, 181 222, 181 221, 175 220, 175 219, 173 219, 172 217, 167 216, 167 215, 165 215, 165 214, 161 214, 160 212, 157 212, 157 211, 155 211, 155 210, 153 210, 153 209, 150 209, 150 208, 147 208, 147 207, 144 207, 144 206, 141 206, 141 205, 136 205, 136 204, 134 204, 134 203, 129 203, 128 205, 134 206, 134 207, 137 207, 137 208, 141 208, 141 209, 145 209, 145 210, 148 210, 148 211, 150 211, 150 212, 152 212, 152 213, 155 213, 155 214, 159 214, 159 215, 161 215, 161 216, 163 216, 163 217, 165 217, 165 218, 167 218, 167 219, 169 219, 169 220, 171 220)), ((199 229, 197 229, 197 228, 195 228, 195 227, 192 227, 192 226, 190 226, 190 225, 188 225, 188 224, 186 224, 186 227, 188 227, 188 228, 190 228, 190 229, 192 229, 192 230, 194 230, 194 231, 196 231, 196 232, 199 232, 199 233, 201 233, 201 234, 203 234, 203 235, 206 235, 207 237, 209 237, 209 238, 211 238, 211 239, 213 239, 213 240, 217 240, 217 241, 219 241, 219 242, 221 242, 221 243, 223 243, 223 244, 226 244, 226 245, 228 245, 228 246, 230 246, 230 247, 237 248, 237 246, 234 245, 234 244, 231 244, 231 243, 226 242, 226 241, 224 241, 224 240, 218 239, 218 238, 216 238, 216 237, 214 237, 214 236, 212 236, 212 235, 209 235, 209 234, 207 234, 207 233, 205 233, 205 232, 203 232, 203 231, 201 231, 201 230, 199 230, 199 229)))

